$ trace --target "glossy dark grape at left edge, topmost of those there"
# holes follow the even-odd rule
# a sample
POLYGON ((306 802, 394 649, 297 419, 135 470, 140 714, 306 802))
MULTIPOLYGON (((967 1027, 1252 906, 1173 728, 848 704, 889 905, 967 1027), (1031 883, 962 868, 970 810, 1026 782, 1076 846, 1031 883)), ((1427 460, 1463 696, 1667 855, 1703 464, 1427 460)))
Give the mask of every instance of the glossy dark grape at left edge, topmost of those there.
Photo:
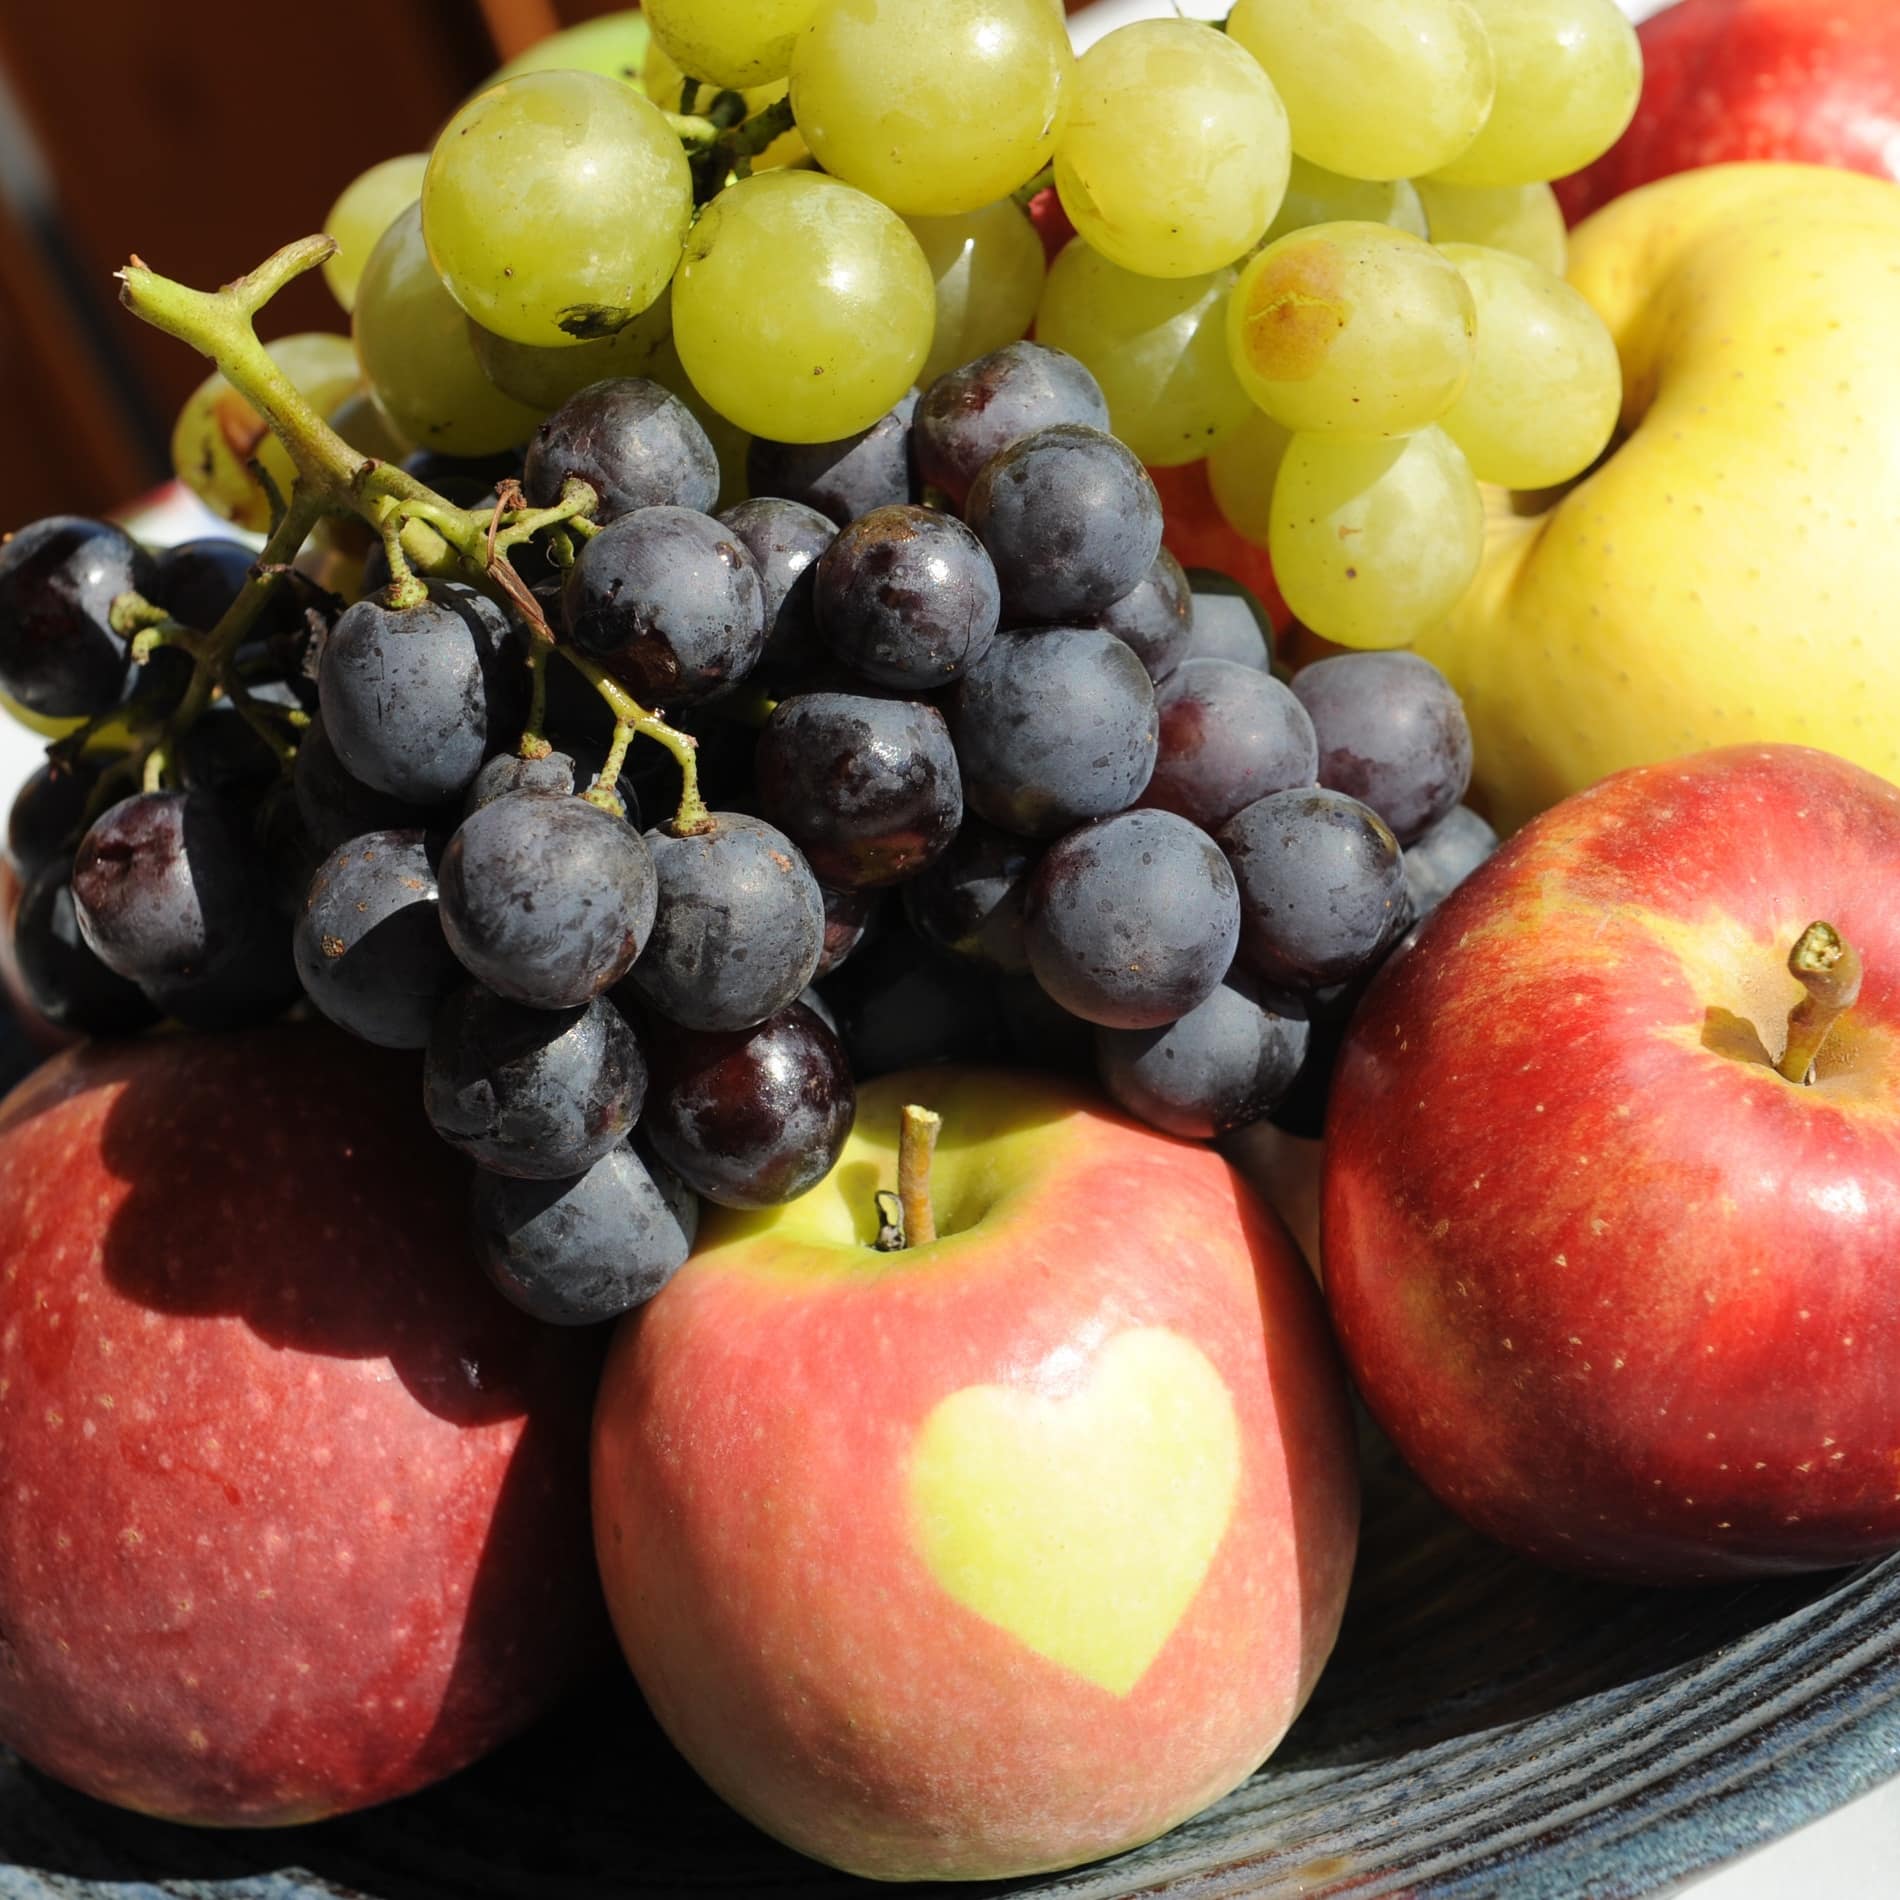
POLYGON ((108 521, 48 515, 0 543, 0 692, 46 718, 118 705, 127 644, 112 602, 148 595, 152 557, 108 521))

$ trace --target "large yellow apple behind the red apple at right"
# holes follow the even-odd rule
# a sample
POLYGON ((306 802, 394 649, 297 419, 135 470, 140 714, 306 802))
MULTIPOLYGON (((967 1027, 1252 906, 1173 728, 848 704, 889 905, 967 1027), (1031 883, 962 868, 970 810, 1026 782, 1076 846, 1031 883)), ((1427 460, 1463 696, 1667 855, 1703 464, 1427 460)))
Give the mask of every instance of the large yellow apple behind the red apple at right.
POLYGON ((1900 184, 1718 165, 1571 234, 1623 355, 1619 441, 1493 496, 1417 642, 1501 828, 1624 766, 1754 739, 1900 779, 1900 184))

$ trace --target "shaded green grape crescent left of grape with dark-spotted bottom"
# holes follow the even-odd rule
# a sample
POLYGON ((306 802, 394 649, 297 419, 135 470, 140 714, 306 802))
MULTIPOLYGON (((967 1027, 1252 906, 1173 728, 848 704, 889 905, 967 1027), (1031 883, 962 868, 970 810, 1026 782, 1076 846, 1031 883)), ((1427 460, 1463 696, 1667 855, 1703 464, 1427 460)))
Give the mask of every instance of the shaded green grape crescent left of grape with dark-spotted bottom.
POLYGON ((540 410, 483 374, 467 317, 429 268, 422 205, 410 205, 363 266, 357 361, 397 433, 445 456, 486 456, 524 443, 540 410))

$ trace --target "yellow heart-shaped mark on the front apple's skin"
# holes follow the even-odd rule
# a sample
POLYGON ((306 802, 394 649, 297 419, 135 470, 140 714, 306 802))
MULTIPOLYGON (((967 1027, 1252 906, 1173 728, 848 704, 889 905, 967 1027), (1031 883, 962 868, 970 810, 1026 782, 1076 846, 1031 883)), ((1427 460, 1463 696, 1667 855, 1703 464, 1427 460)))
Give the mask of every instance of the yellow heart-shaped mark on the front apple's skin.
POLYGON ((967 1385, 918 1433, 931 1575, 1037 1655, 1127 1695, 1206 1577, 1241 1482, 1227 1381, 1178 1332, 1115 1334, 1060 1396, 967 1385))

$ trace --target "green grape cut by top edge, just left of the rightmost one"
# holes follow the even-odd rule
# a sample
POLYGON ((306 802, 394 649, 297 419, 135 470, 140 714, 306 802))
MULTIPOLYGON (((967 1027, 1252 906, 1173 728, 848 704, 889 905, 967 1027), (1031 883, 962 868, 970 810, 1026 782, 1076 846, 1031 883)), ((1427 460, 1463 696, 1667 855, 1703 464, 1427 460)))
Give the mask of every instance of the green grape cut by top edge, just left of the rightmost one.
POLYGON ((1351 179, 1436 171, 1492 110, 1471 0, 1237 0, 1227 32, 1281 89, 1294 150, 1351 179))

